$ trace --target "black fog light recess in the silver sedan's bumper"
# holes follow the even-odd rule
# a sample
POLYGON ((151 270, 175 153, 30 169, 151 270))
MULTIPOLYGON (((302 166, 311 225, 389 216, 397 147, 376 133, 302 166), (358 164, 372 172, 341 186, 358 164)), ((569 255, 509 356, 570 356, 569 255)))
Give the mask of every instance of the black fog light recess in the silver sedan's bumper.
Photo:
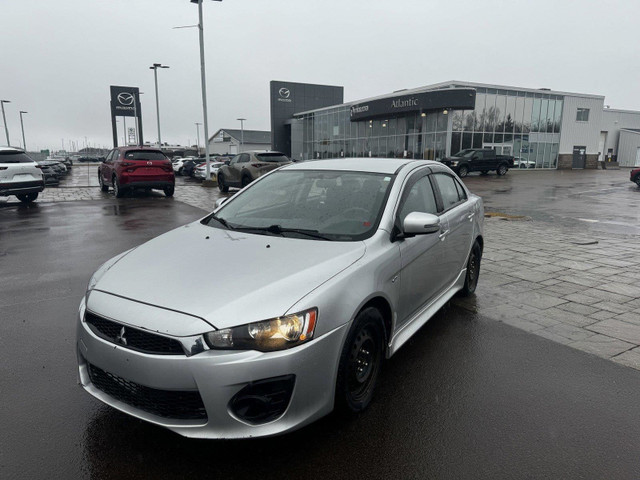
POLYGON ((283 375, 251 382, 233 396, 229 410, 251 425, 271 422, 289 406, 295 380, 295 375, 283 375))

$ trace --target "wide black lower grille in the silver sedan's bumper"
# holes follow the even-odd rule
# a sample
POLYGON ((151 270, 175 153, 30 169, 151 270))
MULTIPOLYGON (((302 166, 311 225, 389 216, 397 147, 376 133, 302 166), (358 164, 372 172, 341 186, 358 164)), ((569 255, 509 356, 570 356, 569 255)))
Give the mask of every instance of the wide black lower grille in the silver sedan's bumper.
POLYGON ((207 420, 197 391, 156 390, 118 377, 87 363, 93 385, 107 395, 145 412, 177 420, 207 420))

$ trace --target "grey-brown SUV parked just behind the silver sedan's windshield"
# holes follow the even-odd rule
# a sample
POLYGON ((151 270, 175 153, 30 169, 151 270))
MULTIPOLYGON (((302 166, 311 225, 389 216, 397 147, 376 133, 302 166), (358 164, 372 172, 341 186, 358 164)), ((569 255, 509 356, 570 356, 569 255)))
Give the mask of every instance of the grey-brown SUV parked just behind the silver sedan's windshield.
POLYGON ((252 150, 233 157, 228 164, 218 170, 218 188, 228 192, 229 187, 244 188, 271 170, 291 163, 281 152, 252 150))

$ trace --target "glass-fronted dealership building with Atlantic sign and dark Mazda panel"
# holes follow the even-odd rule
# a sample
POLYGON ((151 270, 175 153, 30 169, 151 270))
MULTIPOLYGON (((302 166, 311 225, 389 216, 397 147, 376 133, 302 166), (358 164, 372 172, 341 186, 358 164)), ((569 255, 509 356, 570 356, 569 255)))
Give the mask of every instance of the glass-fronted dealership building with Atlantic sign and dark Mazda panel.
POLYGON ((271 82, 271 142, 294 159, 440 159, 493 148, 532 169, 640 164, 640 112, 604 96, 443 82, 344 103, 343 87, 271 82))

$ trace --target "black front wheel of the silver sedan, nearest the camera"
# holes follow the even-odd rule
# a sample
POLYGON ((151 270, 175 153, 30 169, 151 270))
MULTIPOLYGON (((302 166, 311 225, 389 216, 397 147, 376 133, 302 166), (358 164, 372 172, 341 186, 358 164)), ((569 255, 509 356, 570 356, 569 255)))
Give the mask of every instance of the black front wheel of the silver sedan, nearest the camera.
POLYGON ((384 359, 384 320, 373 307, 353 321, 340 355, 335 404, 343 412, 361 412, 373 398, 384 359))

